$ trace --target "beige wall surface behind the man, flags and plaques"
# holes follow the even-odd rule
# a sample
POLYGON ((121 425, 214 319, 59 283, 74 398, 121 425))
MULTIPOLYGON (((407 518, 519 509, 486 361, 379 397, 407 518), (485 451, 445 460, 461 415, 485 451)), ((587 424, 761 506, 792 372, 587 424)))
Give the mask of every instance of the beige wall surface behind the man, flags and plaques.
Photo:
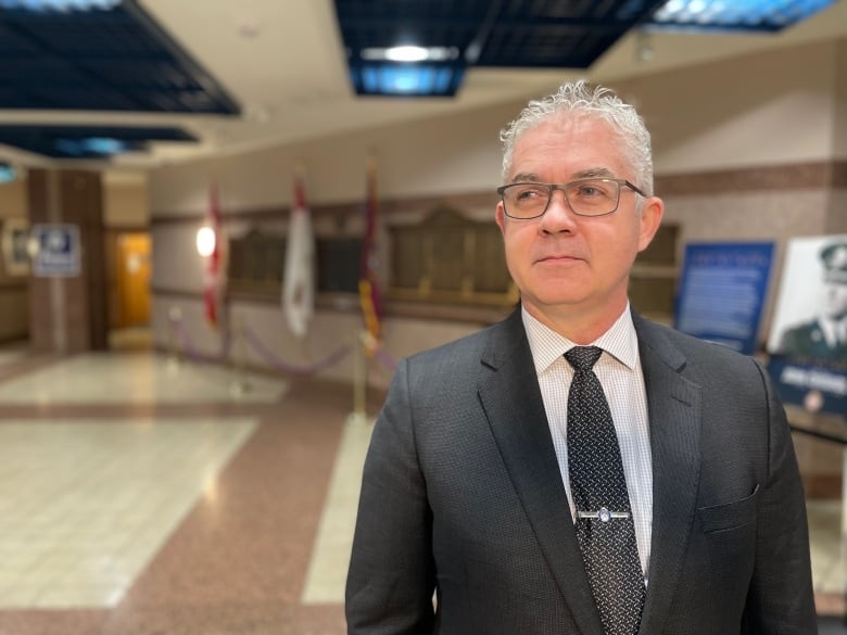
MULTIPOLYGON (((845 156, 847 151, 846 49, 845 42, 830 42, 757 53, 642 76, 614 88, 644 113, 654 132, 657 175, 826 163, 845 156)), ((153 172, 153 288, 169 291, 154 296, 156 342, 170 342, 167 316, 178 306, 185 332, 195 339, 197 350, 213 353, 219 347, 220 333, 202 321, 199 293, 203 264, 193 247, 193 234, 208 206, 212 180, 218 183, 228 230, 237 233, 249 226, 233 220, 238 214, 290 205, 291 175, 299 161, 307 170, 307 196, 313 205, 363 201, 365 165, 372 152, 379 162, 380 200, 401 200, 406 205, 395 211, 389 221, 402 221, 404 214, 414 216, 420 212, 414 209, 416 196, 432 200, 454 193, 493 191, 500 182, 498 131, 524 103, 153 172)), ((667 221, 681 227, 681 249, 688 241, 774 240, 781 257, 791 237, 840 231, 844 225, 838 220, 844 216, 838 212, 844 209, 843 191, 823 187, 736 189, 731 193, 722 192, 720 183, 716 183, 715 191, 668 195, 666 202, 667 221)), ((493 214, 493 206, 465 212, 484 217, 493 214)), ((382 220, 387 220, 384 215, 382 220)), ((280 212, 279 224, 285 227, 285 223, 280 212)), ((318 223, 326 223, 326 218, 318 223)), ((357 231, 358 227, 357 223, 351 224, 346 230, 357 231)), ((318 227, 318 232, 326 230, 318 227)), ((325 306, 306 342, 301 343, 288 334, 278 306, 237 303, 231 306, 230 316, 238 318, 240 328, 254 331, 280 359, 301 365, 350 343, 359 323, 355 302, 325 306)), ((385 322, 387 347, 399 357, 479 326, 394 317, 385 322)), ((251 355, 235 353, 250 363, 262 363, 251 355)), ((351 372, 344 364, 325 374, 350 379, 351 372)), ((375 371, 371 381, 384 384, 388 377, 375 371)))

